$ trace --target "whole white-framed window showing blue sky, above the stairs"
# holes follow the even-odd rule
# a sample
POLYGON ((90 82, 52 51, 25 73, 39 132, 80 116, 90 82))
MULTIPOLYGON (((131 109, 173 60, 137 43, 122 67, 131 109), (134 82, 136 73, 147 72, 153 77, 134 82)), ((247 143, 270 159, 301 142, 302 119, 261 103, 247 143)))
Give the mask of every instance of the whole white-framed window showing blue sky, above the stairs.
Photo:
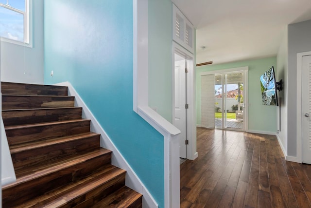
POLYGON ((0 0, 2 41, 31 46, 30 0, 0 0))

